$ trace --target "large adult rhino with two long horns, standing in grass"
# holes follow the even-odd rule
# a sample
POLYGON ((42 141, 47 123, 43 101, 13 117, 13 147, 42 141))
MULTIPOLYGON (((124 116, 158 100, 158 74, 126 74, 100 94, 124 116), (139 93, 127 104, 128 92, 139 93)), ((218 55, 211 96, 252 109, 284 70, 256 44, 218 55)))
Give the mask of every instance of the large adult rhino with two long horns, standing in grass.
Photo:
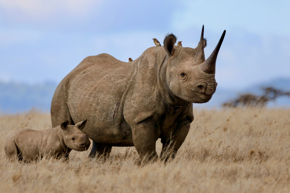
POLYGON ((217 86, 215 61, 225 31, 205 60, 203 29, 197 48, 174 46, 175 36, 168 35, 164 46, 148 48, 133 62, 86 57, 59 83, 52 125, 88 118, 83 132, 93 140, 92 157, 107 157, 112 146, 135 146, 145 163, 157 158, 161 138, 161 157, 174 158, 193 121, 192 103, 208 102, 217 86))

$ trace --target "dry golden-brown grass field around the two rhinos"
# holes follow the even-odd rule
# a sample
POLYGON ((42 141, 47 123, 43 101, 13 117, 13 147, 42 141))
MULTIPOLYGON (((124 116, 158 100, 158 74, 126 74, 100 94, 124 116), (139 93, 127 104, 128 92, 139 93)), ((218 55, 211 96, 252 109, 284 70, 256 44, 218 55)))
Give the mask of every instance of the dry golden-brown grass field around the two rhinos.
MULTIPOLYGON (((290 192, 290 110, 194 109, 195 119, 175 160, 144 167, 134 147, 113 147, 110 158, 69 162, 9 162, 8 135, 48 129, 49 113, 0 115, 0 192, 290 192)), ((160 140, 156 143, 160 154, 160 140)))

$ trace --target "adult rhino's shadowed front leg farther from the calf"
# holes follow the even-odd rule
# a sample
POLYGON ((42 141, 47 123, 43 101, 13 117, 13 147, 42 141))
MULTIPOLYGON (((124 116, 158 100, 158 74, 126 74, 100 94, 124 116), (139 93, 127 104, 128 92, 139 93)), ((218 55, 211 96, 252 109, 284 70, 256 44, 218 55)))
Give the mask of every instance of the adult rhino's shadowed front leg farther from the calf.
POLYGON ((160 157, 166 163, 168 159, 174 159, 175 155, 184 142, 190 128, 190 120, 185 119, 179 124, 173 125, 175 127, 173 134, 161 138, 162 151, 160 157))

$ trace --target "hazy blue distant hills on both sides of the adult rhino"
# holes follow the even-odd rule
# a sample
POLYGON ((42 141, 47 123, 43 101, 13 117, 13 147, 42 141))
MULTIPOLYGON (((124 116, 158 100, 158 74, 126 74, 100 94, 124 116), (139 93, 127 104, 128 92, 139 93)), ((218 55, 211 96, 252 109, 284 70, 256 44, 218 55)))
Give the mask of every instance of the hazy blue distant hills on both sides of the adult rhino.
MULTIPOLYGON (((218 86, 213 98, 205 104, 193 104, 200 108, 220 108, 221 104, 229 101, 239 94, 261 94, 261 87, 273 86, 278 89, 290 91, 290 78, 277 78, 249 86, 240 91, 223 89, 218 86)), ((28 111, 31 108, 50 111, 50 103, 57 83, 46 82, 43 84, 4 83, 0 82, 0 111, 15 113, 28 111)), ((276 102, 269 103, 268 107, 290 108, 290 98, 281 97, 276 102)))

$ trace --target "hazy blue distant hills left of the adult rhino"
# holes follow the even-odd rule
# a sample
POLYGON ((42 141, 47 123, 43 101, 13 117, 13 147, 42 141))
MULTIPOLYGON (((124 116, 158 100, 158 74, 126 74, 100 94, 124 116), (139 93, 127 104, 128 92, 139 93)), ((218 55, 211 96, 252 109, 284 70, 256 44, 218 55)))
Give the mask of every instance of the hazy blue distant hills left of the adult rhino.
POLYGON ((56 83, 43 84, 0 82, 0 110, 4 113, 28 111, 31 108, 50 111, 56 83))

